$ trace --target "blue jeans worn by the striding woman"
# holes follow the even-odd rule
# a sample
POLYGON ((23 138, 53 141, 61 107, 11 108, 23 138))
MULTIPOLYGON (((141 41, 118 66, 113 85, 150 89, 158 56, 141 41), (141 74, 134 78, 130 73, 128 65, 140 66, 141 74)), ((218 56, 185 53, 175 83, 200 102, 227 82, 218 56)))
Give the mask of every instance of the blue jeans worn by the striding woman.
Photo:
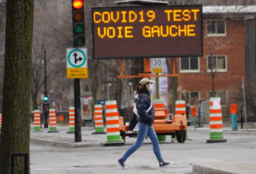
POLYGON ((132 155, 133 152, 137 151, 137 149, 140 148, 141 145, 143 145, 144 138, 147 135, 153 144, 154 155, 157 156, 158 162, 163 161, 162 156, 161 156, 160 147, 158 144, 157 134, 154 131, 154 128, 150 125, 146 125, 141 122, 138 122, 138 125, 139 125, 139 132, 137 135, 137 141, 135 142, 135 144, 130 146, 130 148, 128 148, 126 153, 123 155, 123 159, 124 160, 128 159, 128 157, 130 155, 132 155))

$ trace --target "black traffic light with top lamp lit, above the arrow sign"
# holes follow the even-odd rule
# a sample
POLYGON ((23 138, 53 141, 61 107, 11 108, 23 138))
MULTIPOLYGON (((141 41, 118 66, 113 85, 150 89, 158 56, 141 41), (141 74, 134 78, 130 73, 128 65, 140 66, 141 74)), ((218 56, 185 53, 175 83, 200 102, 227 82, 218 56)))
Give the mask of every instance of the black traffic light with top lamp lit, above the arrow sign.
POLYGON ((72 0, 74 47, 85 46, 84 0, 72 0))

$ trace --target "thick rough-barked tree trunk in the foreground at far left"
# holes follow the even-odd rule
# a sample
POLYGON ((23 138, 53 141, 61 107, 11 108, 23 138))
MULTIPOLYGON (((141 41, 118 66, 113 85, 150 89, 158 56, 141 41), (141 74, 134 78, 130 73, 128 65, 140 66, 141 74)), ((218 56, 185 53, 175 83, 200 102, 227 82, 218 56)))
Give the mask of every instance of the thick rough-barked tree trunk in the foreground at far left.
MULTIPOLYGON (((33 0, 8 0, 0 147, 1 174, 10 173, 10 153, 29 154, 32 37, 33 0)), ((24 174, 23 162, 22 158, 16 158, 14 173, 24 174)))

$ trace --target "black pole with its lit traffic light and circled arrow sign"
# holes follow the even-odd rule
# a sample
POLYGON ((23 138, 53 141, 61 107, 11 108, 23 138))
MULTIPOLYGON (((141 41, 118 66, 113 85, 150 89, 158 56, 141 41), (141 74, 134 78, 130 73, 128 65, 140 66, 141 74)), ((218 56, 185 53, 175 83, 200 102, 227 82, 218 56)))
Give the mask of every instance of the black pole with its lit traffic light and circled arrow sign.
MULTIPOLYGON (((85 46, 84 0, 71 0, 74 48, 85 46)), ((81 49, 67 54, 67 78, 74 78, 74 142, 81 142, 80 78, 87 78, 87 57, 81 49)))

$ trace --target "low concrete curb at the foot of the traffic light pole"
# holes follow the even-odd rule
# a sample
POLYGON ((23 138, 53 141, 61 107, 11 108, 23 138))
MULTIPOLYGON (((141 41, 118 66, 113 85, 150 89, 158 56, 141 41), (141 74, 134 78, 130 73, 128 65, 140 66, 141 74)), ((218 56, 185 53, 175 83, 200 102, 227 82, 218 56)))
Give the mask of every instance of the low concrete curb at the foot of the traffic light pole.
POLYGON ((30 142, 36 145, 48 145, 52 147, 61 148, 88 148, 88 147, 102 147, 103 144, 99 142, 64 142, 52 139, 42 139, 30 137, 30 142))

